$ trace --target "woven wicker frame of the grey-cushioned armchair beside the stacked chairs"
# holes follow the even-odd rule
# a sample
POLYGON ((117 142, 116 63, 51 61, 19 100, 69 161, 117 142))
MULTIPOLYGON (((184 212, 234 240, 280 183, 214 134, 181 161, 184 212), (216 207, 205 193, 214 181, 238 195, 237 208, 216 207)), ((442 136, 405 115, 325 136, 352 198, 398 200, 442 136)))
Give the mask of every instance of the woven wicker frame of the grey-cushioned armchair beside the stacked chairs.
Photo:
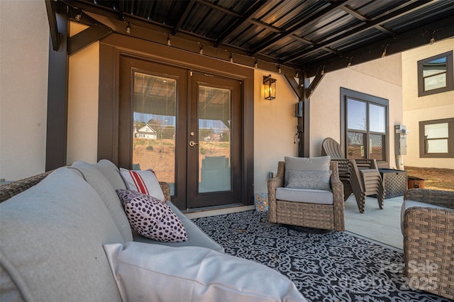
POLYGON ((345 230, 343 184, 338 163, 331 162, 333 204, 318 204, 276 199, 276 189, 284 186, 285 162, 279 162, 277 175, 268 180, 268 215, 270 223, 299 225, 307 228, 345 230))

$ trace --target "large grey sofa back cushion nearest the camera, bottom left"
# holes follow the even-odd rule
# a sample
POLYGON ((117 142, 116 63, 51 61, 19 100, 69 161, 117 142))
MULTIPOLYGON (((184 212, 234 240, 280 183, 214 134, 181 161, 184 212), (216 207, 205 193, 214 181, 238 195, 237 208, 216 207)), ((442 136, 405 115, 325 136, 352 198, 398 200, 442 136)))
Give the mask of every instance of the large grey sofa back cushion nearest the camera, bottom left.
POLYGON ((121 301, 103 249, 123 242, 96 191, 62 167, 0 204, 0 284, 26 301, 121 301), (13 284, 13 286, 11 285, 13 284))

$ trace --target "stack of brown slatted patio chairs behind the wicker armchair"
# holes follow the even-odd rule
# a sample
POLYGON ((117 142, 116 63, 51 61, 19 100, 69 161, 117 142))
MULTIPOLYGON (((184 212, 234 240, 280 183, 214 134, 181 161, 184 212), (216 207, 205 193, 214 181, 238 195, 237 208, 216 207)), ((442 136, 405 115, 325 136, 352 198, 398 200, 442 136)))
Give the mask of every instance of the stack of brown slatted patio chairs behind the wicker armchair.
POLYGON ((375 195, 378 206, 383 208, 384 186, 376 160, 347 160, 333 138, 325 138, 321 144, 321 156, 328 155, 339 164, 339 178, 343 183, 344 200, 352 193, 360 213, 364 213, 365 197, 375 195))

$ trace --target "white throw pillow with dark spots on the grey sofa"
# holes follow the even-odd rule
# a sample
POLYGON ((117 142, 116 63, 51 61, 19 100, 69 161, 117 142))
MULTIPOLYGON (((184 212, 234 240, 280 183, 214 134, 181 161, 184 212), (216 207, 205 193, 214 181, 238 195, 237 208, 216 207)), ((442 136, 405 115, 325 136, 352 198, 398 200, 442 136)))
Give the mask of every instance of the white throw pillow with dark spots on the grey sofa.
POLYGON ((187 240, 182 221, 166 203, 130 189, 116 192, 128 216, 129 224, 137 233, 164 242, 187 240))

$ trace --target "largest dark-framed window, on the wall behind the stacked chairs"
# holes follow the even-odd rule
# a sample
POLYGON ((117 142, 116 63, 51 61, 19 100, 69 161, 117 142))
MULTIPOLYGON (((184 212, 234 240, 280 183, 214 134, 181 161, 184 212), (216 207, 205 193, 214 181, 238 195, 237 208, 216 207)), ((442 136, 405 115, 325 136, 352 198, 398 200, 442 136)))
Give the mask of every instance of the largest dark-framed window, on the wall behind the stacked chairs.
POLYGON ((387 162, 389 101, 341 88, 341 145, 346 158, 387 162))

